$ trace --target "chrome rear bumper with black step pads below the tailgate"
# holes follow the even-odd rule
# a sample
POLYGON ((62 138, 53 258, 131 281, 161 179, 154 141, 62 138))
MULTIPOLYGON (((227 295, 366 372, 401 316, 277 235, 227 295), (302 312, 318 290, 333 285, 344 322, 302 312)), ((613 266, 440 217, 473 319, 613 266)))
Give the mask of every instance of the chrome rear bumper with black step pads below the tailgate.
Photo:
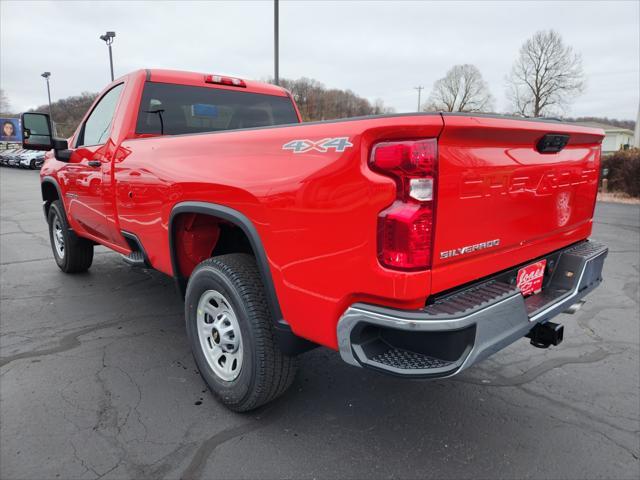
POLYGON ((416 311, 353 304, 338 321, 340 355, 351 365, 406 377, 455 375, 596 288, 607 252, 587 241, 556 253, 544 289, 528 298, 515 285, 490 279, 416 311))

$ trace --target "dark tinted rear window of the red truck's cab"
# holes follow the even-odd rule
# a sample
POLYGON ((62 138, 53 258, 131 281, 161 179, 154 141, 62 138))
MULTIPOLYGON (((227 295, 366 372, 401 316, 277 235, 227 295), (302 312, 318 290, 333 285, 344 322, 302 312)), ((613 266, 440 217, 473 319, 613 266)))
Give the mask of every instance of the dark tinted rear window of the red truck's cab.
POLYGON ((137 134, 181 135, 298 123, 289 97, 146 82, 137 134))

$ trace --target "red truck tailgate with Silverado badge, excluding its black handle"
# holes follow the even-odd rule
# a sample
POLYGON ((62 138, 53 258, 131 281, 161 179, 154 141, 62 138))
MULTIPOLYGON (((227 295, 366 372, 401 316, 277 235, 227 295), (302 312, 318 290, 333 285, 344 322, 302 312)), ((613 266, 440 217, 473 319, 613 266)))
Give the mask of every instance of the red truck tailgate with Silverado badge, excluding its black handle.
POLYGON ((603 132, 554 121, 443 115, 432 270, 437 293, 591 233, 603 132), (568 135, 539 153, 545 135, 568 135))

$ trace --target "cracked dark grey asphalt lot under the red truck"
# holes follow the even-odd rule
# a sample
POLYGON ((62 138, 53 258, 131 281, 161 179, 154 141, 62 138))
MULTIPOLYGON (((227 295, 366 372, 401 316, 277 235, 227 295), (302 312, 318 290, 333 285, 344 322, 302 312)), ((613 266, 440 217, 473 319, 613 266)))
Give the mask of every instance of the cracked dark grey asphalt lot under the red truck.
POLYGON ((36 172, 0 170, 0 477, 640 476, 640 207, 599 204, 605 282, 565 341, 523 339, 456 379, 403 381, 303 355, 249 415, 207 393, 171 279, 97 249, 56 267, 36 172))

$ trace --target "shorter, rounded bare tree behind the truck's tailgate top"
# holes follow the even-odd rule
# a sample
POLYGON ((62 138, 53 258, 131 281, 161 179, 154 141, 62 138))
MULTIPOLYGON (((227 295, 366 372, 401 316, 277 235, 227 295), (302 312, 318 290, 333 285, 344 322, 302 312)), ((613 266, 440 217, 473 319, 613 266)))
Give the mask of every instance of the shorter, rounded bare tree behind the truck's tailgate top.
POLYGON ((493 109, 489 87, 475 65, 455 65, 433 84, 425 110, 486 112, 493 109))

